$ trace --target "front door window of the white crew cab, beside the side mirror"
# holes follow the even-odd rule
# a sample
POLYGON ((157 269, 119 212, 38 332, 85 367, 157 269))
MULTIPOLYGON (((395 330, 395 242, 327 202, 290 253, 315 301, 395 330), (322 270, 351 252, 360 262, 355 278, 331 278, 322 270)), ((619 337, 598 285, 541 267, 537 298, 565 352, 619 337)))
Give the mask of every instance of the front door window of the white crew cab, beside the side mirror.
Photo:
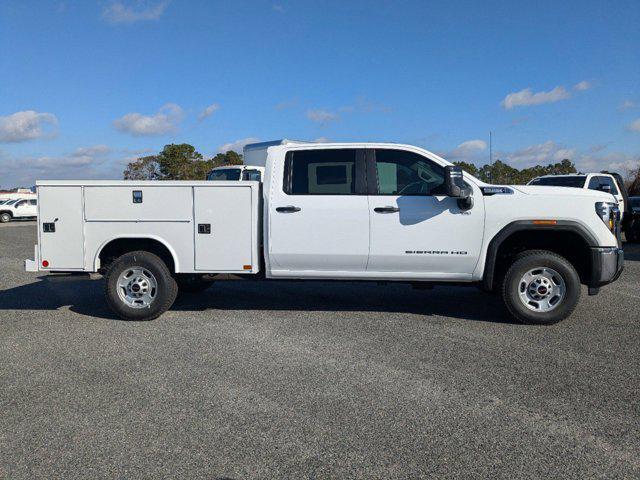
POLYGON ((412 152, 376 149, 378 195, 432 195, 444 185, 444 167, 412 152))

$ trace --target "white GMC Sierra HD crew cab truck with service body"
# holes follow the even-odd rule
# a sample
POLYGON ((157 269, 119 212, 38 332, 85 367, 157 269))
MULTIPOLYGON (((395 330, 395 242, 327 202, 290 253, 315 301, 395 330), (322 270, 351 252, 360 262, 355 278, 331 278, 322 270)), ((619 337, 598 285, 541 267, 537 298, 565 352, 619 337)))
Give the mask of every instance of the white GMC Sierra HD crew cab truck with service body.
POLYGON ((38 182, 26 269, 101 273, 131 320, 158 317, 180 289, 249 277, 476 285, 540 324, 622 271, 608 193, 487 185, 408 145, 280 140, 244 157, 262 183, 38 182))

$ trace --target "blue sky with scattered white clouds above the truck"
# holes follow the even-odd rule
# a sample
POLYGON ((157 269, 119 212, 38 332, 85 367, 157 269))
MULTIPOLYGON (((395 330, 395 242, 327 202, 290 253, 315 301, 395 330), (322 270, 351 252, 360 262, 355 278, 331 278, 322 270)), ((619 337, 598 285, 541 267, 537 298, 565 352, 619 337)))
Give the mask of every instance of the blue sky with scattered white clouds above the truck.
POLYGON ((640 3, 0 2, 0 186, 120 178, 167 143, 394 141, 640 161, 640 3))

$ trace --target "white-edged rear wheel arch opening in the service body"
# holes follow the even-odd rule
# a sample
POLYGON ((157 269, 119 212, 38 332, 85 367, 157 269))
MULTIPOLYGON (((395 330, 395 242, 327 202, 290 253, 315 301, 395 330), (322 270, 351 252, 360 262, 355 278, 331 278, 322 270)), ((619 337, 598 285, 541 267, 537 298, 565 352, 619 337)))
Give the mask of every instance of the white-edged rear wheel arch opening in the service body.
POLYGON ((93 269, 94 271, 104 269, 113 256, 120 256, 136 250, 154 253, 167 263, 171 272, 180 271, 180 261, 176 251, 169 242, 157 235, 118 235, 105 240, 94 256, 93 269))

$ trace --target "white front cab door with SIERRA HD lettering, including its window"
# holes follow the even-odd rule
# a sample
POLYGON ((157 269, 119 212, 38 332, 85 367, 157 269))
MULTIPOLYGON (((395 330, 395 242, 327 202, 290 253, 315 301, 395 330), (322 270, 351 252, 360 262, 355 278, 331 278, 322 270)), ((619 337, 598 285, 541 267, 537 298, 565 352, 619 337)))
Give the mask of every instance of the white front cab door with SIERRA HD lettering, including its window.
POLYGON ((469 279, 480 256, 484 201, 463 211, 444 195, 444 167, 402 149, 367 150, 371 247, 368 272, 469 279))

